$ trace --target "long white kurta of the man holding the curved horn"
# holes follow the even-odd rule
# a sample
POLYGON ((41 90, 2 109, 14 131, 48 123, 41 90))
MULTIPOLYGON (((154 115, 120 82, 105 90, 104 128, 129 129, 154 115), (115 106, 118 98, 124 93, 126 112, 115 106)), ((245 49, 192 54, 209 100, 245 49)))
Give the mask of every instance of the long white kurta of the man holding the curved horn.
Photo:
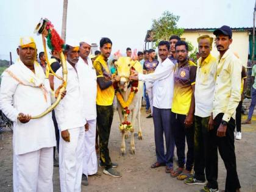
MULTIPOLYGON (((16 66, 15 63, 10 68, 15 69, 16 66)), ((13 152, 15 155, 55 146, 52 113, 42 118, 30 119, 28 123, 20 123, 17 119, 18 113, 35 116, 51 105, 51 88, 48 79, 44 80, 44 87, 48 91, 47 101, 39 87, 22 85, 6 72, 2 74, 0 108, 7 118, 13 121, 13 152)))

